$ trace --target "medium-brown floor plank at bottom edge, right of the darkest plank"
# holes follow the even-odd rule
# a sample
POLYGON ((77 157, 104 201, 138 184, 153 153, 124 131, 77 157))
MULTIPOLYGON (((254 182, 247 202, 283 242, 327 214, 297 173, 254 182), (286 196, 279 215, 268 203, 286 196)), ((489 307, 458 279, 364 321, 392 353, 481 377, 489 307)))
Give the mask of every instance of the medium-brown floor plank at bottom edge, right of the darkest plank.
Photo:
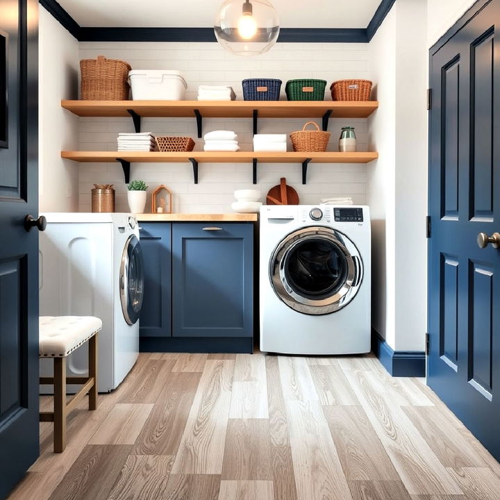
POLYGON ((129 455, 108 500, 162 500, 173 456, 129 455))

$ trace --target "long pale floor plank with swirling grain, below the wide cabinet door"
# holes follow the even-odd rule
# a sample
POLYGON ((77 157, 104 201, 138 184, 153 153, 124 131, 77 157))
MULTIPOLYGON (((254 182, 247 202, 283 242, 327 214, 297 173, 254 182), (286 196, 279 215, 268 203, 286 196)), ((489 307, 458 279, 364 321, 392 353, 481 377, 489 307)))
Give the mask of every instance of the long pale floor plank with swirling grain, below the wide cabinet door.
POLYGON ((233 372, 233 360, 206 361, 172 469, 174 474, 222 474, 233 372))

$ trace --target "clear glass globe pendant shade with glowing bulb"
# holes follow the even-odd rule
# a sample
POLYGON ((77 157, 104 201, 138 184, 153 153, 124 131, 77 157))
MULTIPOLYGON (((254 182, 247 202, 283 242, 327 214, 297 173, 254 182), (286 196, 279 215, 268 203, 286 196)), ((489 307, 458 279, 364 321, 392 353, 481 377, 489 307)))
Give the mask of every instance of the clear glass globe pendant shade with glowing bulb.
POLYGON ((215 37, 239 56, 265 53, 279 35, 278 12, 269 0, 226 0, 215 19, 215 37))

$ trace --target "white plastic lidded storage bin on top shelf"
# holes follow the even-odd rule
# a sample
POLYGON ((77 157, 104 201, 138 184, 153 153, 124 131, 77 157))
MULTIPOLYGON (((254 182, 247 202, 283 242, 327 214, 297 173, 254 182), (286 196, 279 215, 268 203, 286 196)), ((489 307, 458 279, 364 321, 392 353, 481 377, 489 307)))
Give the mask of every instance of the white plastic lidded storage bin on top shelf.
POLYGON ((166 69, 133 69, 128 78, 134 101, 182 101, 188 88, 181 73, 166 69))

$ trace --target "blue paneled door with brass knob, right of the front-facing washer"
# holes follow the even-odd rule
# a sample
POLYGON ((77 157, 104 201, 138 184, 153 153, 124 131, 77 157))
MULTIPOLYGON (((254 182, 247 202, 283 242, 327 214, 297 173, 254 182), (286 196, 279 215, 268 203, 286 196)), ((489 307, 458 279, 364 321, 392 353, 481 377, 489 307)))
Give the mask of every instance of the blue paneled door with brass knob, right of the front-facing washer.
POLYGON ((428 384, 497 458, 500 249, 486 238, 500 232, 499 28, 492 0, 431 52, 428 260, 428 384))

